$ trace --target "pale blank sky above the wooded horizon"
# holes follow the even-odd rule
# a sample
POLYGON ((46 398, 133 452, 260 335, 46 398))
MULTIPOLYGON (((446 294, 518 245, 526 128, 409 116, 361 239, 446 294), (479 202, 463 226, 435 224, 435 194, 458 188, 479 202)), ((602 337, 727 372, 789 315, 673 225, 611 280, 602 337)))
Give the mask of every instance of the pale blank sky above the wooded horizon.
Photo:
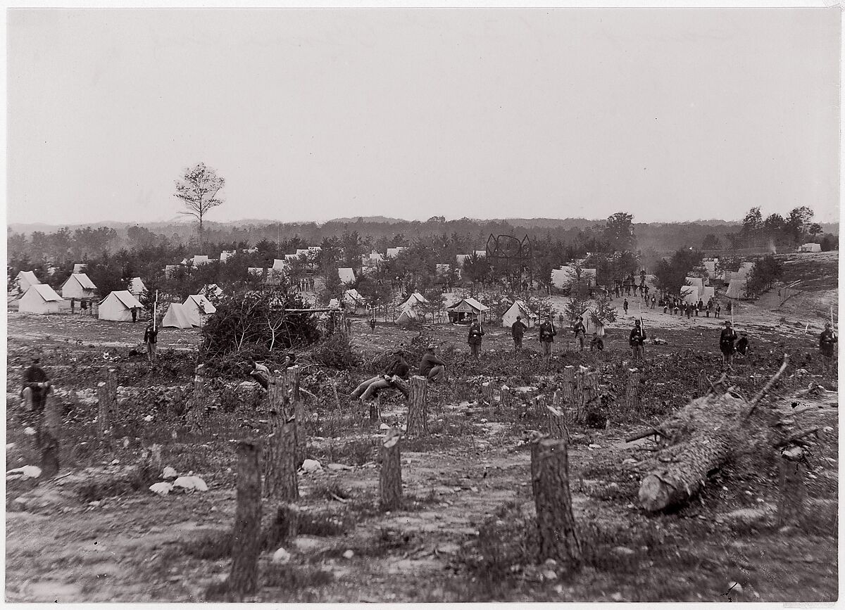
POLYGON ((840 9, 17 10, 8 221, 838 219, 840 9))

